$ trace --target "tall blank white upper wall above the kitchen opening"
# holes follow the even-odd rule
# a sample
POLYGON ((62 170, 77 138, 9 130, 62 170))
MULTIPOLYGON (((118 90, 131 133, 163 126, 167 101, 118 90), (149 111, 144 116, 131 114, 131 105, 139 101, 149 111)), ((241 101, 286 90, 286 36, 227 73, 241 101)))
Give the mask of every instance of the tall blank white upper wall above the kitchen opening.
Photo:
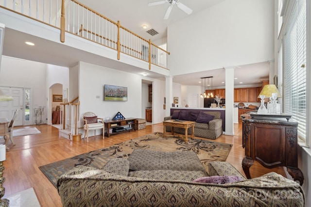
POLYGON ((169 25, 170 75, 273 59, 273 19, 273 0, 225 0, 169 25))

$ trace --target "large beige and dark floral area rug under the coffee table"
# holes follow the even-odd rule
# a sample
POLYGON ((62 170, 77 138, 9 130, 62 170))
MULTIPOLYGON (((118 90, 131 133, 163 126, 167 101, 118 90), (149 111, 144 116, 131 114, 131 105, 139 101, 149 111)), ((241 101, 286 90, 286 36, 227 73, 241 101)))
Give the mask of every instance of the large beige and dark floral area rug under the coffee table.
POLYGON ((188 139, 185 143, 183 139, 174 137, 163 137, 163 133, 155 132, 122 143, 114 144, 110 147, 87 152, 69 159, 63 159, 51 164, 40 166, 39 169, 49 178, 56 187, 57 178, 77 165, 86 165, 102 168, 109 159, 125 158, 134 149, 148 149, 154 151, 194 151, 197 153, 203 166, 208 172, 207 164, 211 161, 225 161, 232 144, 217 143, 201 139, 188 139))

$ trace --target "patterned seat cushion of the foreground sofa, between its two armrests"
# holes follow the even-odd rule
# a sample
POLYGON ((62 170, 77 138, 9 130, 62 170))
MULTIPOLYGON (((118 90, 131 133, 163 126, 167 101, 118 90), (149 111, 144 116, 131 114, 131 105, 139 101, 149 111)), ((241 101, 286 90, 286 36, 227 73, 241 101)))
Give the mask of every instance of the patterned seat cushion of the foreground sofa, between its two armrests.
POLYGON ((177 171, 177 170, 134 170, 128 176, 156 180, 186 180, 192 181, 197 177, 208 176, 206 171, 177 171))

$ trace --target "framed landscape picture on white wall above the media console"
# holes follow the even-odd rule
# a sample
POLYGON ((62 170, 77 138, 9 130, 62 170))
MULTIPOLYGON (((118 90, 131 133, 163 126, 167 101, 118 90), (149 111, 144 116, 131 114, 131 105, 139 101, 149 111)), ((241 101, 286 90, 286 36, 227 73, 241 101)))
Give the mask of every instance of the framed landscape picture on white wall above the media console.
POLYGON ((104 85, 104 101, 127 101, 127 87, 104 85))

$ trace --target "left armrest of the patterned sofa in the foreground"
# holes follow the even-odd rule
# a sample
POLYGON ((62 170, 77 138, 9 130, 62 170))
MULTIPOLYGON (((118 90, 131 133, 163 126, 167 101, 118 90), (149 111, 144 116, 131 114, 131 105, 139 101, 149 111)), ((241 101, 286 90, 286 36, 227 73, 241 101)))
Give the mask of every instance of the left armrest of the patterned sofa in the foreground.
POLYGON ((122 176, 127 176, 129 169, 129 161, 122 158, 109 159, 107 163, 102 167, 102 170, 108 173, 114 173, 122 176))

